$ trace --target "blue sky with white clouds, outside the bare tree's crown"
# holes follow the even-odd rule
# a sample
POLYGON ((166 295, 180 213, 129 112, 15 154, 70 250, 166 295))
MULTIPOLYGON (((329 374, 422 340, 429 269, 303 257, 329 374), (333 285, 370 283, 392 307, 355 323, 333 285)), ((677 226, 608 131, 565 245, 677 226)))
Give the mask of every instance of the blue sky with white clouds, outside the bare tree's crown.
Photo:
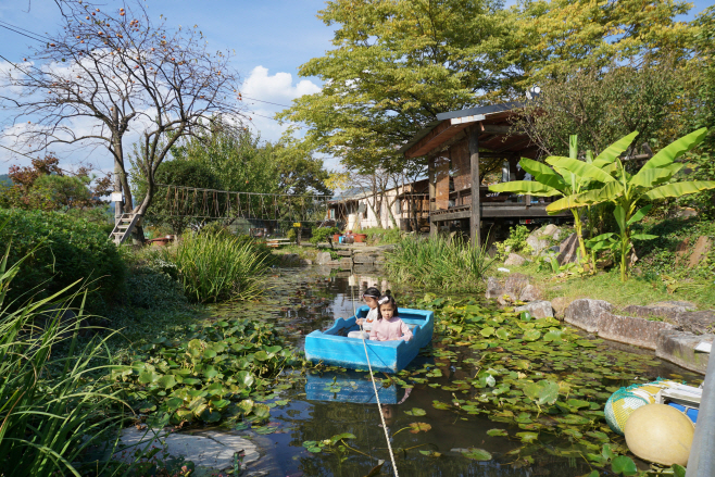
MULTIPOLYGON (((106 4, 118 8, 122 2, 108 0, 106 4)), ((693 4, 691 13, 682 20, 694 17, 712 0, 697 0, 693 4)), ((147 5, 154 17, 167 16, 170 26, 198 24, 214 49, 236 50, 234 65, 243 78, 244 97, 290 104, 300 95, 319 89, 316 78, 298 77, 298 68, 331 48, 333 28, 316 17, 324 7, 322 0, 148 0, 147 5)), ((2 0, 0 20, 39 34, 52 33, 58 28, 59 10, 53 0, 2 0)), ((0 28, 0 53, 9 60, 22 60, 33 42, 0 28)), ((285 127, 260 115, 273 116, 283 108, 250 100, 247 103, 254 113, 253 128, 263 139, 278 139, 285 127)), ((91 156, 88 154, 70 154, 67 161, 89 158, 100 168, 111 168, 106 154, 97 150, 91 156)), ((0 150, 0 174, 11 164, 27 163, 26 158, 0 150)), ((337 166, 334 162, 327 165, 337 166)))

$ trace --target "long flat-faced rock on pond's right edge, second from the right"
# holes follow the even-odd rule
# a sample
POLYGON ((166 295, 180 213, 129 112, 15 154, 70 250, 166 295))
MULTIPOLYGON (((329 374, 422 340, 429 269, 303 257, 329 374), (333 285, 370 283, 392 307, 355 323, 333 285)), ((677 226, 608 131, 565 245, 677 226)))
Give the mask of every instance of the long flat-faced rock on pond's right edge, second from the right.
POLYGON ((675 326, 665 322, 603 312, 599 317, 598 328, 600 338, 654 350, 657 347, 658 332, 675 326))

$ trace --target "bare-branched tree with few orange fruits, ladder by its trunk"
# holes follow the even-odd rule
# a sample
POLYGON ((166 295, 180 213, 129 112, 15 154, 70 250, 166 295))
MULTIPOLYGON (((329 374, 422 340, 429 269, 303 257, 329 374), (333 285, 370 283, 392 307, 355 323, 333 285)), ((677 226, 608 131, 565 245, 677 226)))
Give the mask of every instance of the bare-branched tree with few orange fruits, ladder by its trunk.
POLYGON ((11 87, 0 104, 14 113, 5 136, 30 151, 106 148, 114 190, 124 192, 123 210, 131 212, 124 140, 139 134, 138 167, 147 187, 134 212, 143 215, 156 190, 156 168, 176 141, 219 118, 238 125, 244 117, 231 54, 211 53, 196 25, 170 30, 165 20, 152 24, 139 1, 111 12, 81 0, 63 0, 62 7, 62 29, 7 72, 11 87))

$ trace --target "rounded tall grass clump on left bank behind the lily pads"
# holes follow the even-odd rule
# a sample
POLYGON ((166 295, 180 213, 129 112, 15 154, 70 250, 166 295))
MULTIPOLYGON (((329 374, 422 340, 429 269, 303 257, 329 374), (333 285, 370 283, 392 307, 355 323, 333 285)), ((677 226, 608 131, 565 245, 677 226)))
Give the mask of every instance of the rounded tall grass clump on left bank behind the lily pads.
POLYGON ((215 303, 251 300, 263 293, 267 259, 252 241, 196 235, 159 253, 176 267, 177 278, 190 300, 215 303))

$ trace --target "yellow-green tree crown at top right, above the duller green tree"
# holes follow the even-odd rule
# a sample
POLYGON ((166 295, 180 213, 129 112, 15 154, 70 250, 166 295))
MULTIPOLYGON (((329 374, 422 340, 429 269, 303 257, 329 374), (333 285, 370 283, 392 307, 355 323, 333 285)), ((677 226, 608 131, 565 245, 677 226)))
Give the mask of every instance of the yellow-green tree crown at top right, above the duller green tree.
POLYGON ((526 88, 585 67, 683 53, 695 28, 676 17, 691 8, 681 0, 524 0, 514 25, 518 48, 504 54, 526 88))

